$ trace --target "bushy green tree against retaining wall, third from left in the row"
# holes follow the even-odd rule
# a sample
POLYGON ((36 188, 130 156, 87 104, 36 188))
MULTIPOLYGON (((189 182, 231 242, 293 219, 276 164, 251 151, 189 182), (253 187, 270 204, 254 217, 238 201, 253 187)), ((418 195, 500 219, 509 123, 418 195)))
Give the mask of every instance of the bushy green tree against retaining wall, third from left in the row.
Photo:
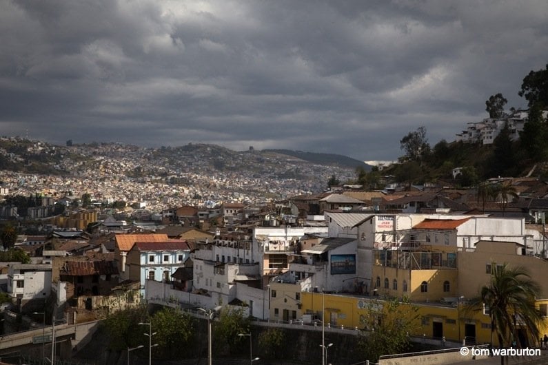
POLYGON ((217 353, 230 355, 245 350, 245 338, 239 333, 250 333, 250 318, 243 315, 243 308, 225 306, 214 326, 214 344, 217 353))

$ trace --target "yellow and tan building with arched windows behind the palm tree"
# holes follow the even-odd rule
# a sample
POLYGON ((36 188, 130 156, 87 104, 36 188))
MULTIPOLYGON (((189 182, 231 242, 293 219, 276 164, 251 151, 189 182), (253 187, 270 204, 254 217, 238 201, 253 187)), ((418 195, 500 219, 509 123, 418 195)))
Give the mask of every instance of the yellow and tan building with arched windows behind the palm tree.
POLYGON ((458 251, 439 246, 421 247, 429 251, 374 250, 372 296, 301 293, 301 311, 320 320, 325 317, 329 326, 363 328, 371 300, 407 297, 420 317, 412 335, 498 346, 488 313, 468 309, 467 300, 489 284, 493 265, 506 263, 525 267, 540 284, 536 301, 544 318, 540 331, 548 333, 548 282, 544 280, 548 261, 522 255, 522 245, 514 242, 479 241, 475 246, 458 251))

